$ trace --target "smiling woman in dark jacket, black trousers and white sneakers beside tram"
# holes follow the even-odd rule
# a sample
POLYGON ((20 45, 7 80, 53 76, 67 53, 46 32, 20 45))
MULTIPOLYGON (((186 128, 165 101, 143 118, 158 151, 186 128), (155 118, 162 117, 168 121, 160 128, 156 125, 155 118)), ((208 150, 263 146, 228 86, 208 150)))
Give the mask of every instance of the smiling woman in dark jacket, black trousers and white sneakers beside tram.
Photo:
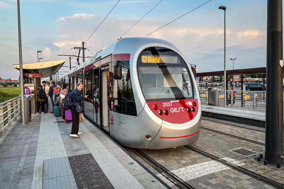
POLYGON ((79 137, 78 135, 82 134, 81 132, 79 132, 79 113, 76 111, 76 103, 82 103, 81 101, 89 96, 85 95, 82 97, 81 90, 83 89, 83 83, 79 82, 76 86, 77 88, 72 91, 74 99, 72 105, 72 130, 70 133, 71 137, 79 137))

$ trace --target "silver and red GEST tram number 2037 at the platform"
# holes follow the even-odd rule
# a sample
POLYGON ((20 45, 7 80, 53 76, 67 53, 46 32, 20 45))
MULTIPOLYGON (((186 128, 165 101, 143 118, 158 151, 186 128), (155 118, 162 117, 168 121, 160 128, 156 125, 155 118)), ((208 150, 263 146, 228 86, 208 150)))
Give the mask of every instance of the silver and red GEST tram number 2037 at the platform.
POLYGON ((123 38, 60 78, 84 84, 84 115, 121 145, 164 149, 197 141, 201 103, 195 68, 162 39, 123 38))

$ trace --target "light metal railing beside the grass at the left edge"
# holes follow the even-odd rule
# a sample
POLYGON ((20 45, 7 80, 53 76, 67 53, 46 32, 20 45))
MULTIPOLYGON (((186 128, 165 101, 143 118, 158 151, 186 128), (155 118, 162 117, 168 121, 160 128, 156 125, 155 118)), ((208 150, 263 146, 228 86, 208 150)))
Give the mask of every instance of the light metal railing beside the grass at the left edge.
POLYGON ((12 126, 12 122, 20 114, 20 96, 0 103, 0 136, 4 130, 12 126))

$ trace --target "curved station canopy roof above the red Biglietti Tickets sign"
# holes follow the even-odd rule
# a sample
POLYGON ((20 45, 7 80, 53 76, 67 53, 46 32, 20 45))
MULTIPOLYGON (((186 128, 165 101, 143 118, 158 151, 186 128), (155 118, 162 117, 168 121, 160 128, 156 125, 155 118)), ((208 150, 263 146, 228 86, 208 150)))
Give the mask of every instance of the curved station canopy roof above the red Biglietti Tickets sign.
MULTIPOLYGON (((42 77, 50 77, 55 75, 60 67, 65 63, 66 60, 53 60, 47 62, 35 62, 23 64, 23 74, 28 73, 42 73, 42 77)), ((14 68, 20 70, 20 64, 13 65, 14 68)))

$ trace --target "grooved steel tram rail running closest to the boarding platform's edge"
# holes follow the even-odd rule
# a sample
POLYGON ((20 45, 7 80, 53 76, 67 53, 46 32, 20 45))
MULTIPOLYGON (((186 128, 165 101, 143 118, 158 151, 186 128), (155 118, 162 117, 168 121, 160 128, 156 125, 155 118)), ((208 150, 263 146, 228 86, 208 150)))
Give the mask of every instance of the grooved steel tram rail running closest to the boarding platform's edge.
MULTIPOLYGON (((142 158, 145 162, 147 162, 149 165, 151 165, 154 169, 156 169, 159 173, 162 175, 165 175, 167 179, 172 180, 171 182, 182 189, 195 189, 193 186, 188 184, 187 182, 180 179, 178 176, 176 176, 174 173, 170 172, 166 167, 160 165, 158 162, 153 160, 151 157, 149 157, 147 154, 142 152, 139 149, 136 148, 129 148, 132 152, 134 152, 137 156, 142 158)), ((171 188, 169 186, 169 188, 171 188)))

